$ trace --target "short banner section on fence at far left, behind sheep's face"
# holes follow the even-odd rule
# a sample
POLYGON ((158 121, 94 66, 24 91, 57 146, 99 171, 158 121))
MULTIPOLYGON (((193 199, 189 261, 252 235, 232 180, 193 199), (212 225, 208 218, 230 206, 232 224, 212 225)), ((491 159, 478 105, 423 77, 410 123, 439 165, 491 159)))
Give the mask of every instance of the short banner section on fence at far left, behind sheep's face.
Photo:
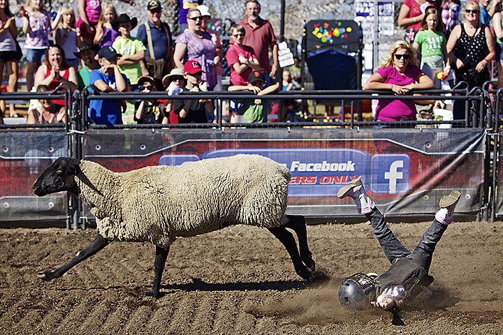
POLYGON ((56 158, 68 156, 63 131, 20 130, 0 133, 0 221, 66 218, 66 194, 38 198, 31 186, 56 158))

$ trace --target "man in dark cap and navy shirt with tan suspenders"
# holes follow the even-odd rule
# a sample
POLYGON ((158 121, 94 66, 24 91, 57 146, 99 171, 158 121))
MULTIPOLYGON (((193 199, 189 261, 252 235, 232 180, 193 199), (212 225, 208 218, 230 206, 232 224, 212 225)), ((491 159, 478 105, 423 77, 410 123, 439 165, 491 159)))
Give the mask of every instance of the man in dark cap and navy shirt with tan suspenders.
POLYGON ((161 22, 161 16, 161 1, 150 0, 147 3, 148 20, 138 27, 136 34, 136 38, 147 47, 145 66, 159 90, 162 89, 162 78, 173 68, 173 39, 168 24, 161 22))

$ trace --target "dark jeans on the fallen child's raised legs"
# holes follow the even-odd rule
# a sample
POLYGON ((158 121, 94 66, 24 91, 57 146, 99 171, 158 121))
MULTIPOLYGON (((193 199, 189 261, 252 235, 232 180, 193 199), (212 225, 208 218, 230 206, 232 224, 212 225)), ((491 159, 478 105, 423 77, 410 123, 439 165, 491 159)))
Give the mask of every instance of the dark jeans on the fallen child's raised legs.
POLYGON ((437 220, 433 220, 433 223, 425 231, 421 241, 416 246, 414 251, 411 253, 409 249, 405 248, 402 242, 400 242, 395 234, 386 224, 384 216, 381 214, 379 209, 374 208, 368 214, 365 214, 367 219, 372 224, 372 231, 374 237, 381 245, 384 255, 390 262, 393 262, 395 258, 406 257, 414 261, 420 267, 423 267, 428 273, 430 270, 430 265, 433 257, 433 251, 435 251, 435 246, 442 238, 442 235, 447 229, 447 225, 439 223, 437 220))

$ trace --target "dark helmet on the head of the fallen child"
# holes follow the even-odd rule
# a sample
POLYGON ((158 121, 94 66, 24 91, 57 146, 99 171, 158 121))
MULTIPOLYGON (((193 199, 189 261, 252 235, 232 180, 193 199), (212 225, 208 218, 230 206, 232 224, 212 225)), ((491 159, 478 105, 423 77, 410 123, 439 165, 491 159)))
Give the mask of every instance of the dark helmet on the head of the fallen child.
POLYGON ((370 303, 369 294, 374 286, 374 279, 370 276, 360 272, 353 274, 342 281, 339 302, 347 308, 363 309, 370 303))

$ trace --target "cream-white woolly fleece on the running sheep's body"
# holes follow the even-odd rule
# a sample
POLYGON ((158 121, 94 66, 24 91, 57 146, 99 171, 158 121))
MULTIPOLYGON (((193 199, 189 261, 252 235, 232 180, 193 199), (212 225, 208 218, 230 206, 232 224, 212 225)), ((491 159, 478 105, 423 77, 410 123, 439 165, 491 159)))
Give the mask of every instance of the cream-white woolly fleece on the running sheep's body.
POLYGON ((103 237, 167 247, 229 225, 279 227, 291 178, 269 158, 237 155, 116 173, 81 161, 75 177, 103 237), (86 181, 85 179, 89 179, 86 181))

